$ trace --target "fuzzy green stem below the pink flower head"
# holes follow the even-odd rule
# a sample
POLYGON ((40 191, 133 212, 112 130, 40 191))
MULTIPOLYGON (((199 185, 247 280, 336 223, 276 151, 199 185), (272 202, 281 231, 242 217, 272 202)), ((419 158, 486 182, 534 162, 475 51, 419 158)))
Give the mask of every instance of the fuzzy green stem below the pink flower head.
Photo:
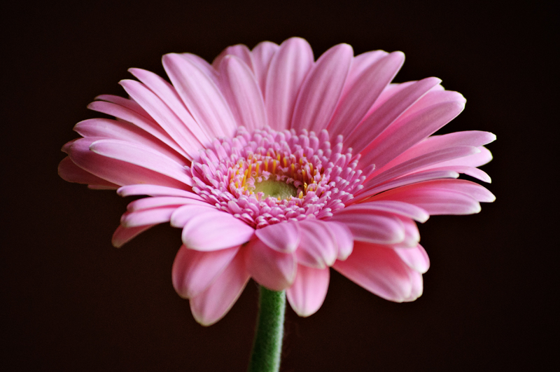
POLYGON ((248 372, 278 372, 284 333, 286 292, 260 287, 257 330, 248 372))

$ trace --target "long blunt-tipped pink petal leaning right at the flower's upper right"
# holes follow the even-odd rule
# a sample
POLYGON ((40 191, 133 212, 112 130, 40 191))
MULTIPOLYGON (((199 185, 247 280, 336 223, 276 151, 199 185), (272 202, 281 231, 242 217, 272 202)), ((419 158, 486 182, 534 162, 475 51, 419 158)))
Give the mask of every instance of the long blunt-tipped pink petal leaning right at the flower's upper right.
POLYGON ((356 128, 403 62, 405 55, 401 52, 386 55, 365 69, 352 86, 344 88, 345 93, 328 125, 331 138, 346 137, 356 128))

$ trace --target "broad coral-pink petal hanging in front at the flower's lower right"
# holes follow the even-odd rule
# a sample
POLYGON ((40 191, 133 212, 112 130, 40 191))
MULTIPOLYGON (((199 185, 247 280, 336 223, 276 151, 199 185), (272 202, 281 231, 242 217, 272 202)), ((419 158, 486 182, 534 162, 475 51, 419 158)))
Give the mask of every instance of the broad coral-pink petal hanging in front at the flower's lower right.
POLYGON ((391 248, 355 242, 346 261, 332 266, 367 291, 389 301, 402 302, 412 293, 412 271, 391 248))

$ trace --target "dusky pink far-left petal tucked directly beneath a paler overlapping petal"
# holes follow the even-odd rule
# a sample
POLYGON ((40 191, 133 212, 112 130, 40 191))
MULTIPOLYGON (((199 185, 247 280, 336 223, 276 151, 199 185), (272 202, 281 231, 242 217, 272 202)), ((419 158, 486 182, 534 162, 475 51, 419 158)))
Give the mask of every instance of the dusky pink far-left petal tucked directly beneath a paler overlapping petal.
MULTIPOLYGON (((188 184, 164 174, 121 160, 107 158, 90 151, 96 138, 78 139, 69 149, 73 163, 97 177, 120 186, 128 184, 155 184, 173 188, 188 188, 188 184)), ((171 161, 171 160, 170 160, 171 161)))

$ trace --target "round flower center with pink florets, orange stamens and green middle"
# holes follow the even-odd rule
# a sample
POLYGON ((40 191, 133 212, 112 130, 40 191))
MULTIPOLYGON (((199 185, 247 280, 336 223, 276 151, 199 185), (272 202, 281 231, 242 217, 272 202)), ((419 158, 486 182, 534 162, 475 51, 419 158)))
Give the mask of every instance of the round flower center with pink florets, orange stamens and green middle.
POLYGON ((188 167, 193 191, 218 209, 255 228, 282 221, 324 219, 344 208, 365 174, 358 157, 342 152, 342 137, 331 147, 328 132, 272 129, 216 139, 188 167))

